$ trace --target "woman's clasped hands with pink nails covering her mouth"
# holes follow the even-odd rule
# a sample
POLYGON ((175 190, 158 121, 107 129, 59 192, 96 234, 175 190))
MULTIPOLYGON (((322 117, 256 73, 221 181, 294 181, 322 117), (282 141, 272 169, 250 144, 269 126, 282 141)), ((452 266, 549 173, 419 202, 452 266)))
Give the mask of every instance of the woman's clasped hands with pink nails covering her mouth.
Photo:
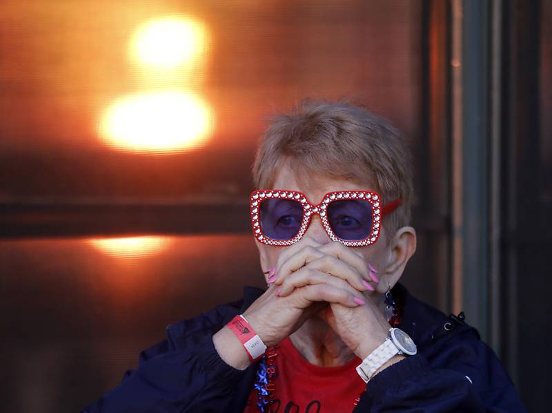
POLYGON ((279 256, 270 282, 244 312, 267 346, 312 316, 322 317, 362 359, 388 336, 390 326, 374 302, 379 279, 361 253, 341 242, 302 238, 279 256))

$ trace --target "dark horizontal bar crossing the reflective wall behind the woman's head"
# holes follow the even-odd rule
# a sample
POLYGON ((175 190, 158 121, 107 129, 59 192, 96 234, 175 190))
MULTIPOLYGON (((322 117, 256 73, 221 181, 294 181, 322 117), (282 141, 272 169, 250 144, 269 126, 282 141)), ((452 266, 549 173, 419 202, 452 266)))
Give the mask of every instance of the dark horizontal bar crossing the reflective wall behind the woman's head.
MULTIPOLYGON (((415 216, 420 233, 448 233, 446 218, 415 216)), ((197 202, 0 203, 0 239, 86 236, 250 234, 249 206, 197 202)))

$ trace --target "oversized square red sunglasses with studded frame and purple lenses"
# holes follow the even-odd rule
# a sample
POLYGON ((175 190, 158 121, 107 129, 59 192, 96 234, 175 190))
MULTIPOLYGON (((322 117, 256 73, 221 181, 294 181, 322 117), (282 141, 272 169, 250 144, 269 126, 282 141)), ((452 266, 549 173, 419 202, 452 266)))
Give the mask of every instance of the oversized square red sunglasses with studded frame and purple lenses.
POLYGON ((251 224, 259 242, 285 246, 300 240, 318 214, 331 240, 362 247, 377 241, 382 216, 401 203, 381 205, 380 194, 373 191, 335 191, 315 205, 299 191, 259 189, 250 196, 251 224))

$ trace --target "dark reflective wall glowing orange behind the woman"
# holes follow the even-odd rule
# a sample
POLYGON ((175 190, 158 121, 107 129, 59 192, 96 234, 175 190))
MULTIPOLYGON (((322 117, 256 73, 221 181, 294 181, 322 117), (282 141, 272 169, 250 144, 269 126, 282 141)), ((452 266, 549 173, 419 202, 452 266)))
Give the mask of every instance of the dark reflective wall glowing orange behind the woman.
MULTIPOLYGON (((501 165, 501 207, 482 215, 493 222, 495 211, 503 229, 496 240, 489 237, 499 246, 503 271, 498 283, 489 263, 460 277, 479 277, 486 286, 472 320, 502 356, 528 407, 538 411, 550 381, 544 367, 535 367, 541 384, 532 384, 527 349, 535 354, 542 347, 543 322, 534 312, 546 319, 550 310, 540 286, 552 233, 546 179, 552 126, 542 115, 552 106, 552 11, 544 1, 490 4, 478 32, 491 31, 497 10, 500 29, 474 53, 489 58, 480 73, 489 84, 497 76, 491 69, 500 68, 505 102, 498 122, 483 121, 489 130, 502 127, 500 156, 481 157, 489 170, 497 159, 501 165), (493 60, 496 48, 501 53, 493 60), (539 235, 529 220, 537 216, 539 235), (477 324, 481 308, 494 314, 488 324, 477 324)), ((250 164, 267 118, 304 97, 353 97, 408 137, 419 244, 403 279, 431 305, 455 310, 453 111, 462 102, 453 93, 459 62, 452 57, 459 5, 470 6, 3 1, 0 410, 78 410, 117 385, 141 349, 164 337, 166 325, 239 298, 243 285, 262 286, 248 227, 250 164), (197 56, 172 69, 137 64, 128 51, 137 30, 166 16, 204 25, 197 56), (112 102, 166 90, 193 93, 210 107, 204 144, 121 150, 103 140, 102 114, 112 102)), ((466 37, 471 28, 463 27, 466 37)), ((460 63, 470 56, 461 55, 460 63)), ((491 106, 491 89, 483 90, 482 106, 491 106)), ((130 123, 141 124, 144 116, 150 114, 130 123)), ((485 176, 491 181, 492 174, 485 176)), ((483 203, 495 199, 491 187, 478 195, 483 203)), ((489 233, 485 228, 479 236, 489 233)), ((466 285, 460 305, 470 307, 466 300, 475 294, 466 285)), ((542 348, 538 363, 546 356, 542 348)))

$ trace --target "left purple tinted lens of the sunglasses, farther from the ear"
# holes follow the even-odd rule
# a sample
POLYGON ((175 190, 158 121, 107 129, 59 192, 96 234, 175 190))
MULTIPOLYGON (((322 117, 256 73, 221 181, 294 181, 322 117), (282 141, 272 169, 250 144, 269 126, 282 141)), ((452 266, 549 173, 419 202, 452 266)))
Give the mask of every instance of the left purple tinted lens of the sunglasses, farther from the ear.
POLYGON ((259 219, 265 236, 273 240, 290 240, 301 228, 303 207, 294 200, 262 200, 259 219))

